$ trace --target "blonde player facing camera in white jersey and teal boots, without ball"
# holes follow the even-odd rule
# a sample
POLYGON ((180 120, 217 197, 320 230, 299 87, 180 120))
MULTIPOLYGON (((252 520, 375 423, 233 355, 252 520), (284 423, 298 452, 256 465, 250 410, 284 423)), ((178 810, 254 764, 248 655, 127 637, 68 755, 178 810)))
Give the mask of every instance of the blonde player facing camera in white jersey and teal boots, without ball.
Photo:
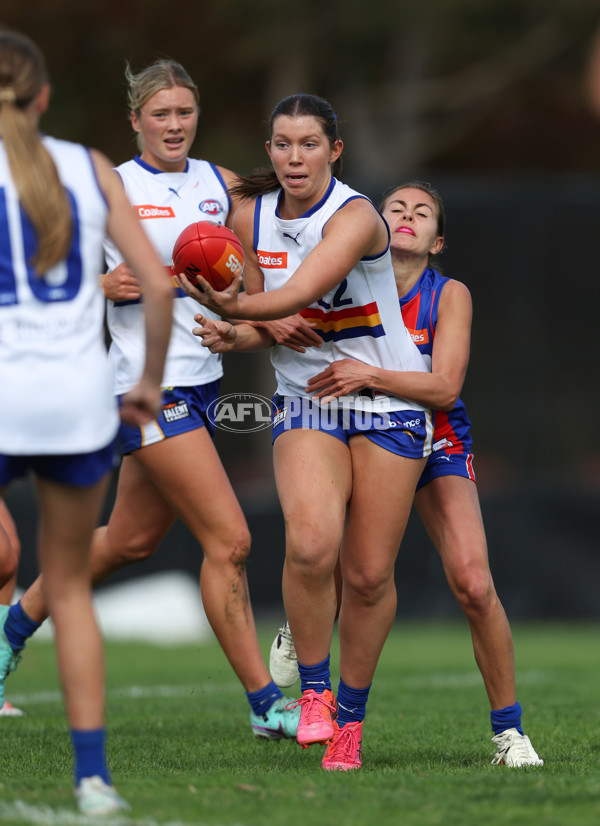
MULTIPOLYGON (((165 266, 181 230, 202 218, 230 220, 227 187, 236 178, 223 167, 188 156, 199 115, 198 89, 175 61, 159 60, 137 74, 127 70, 131 124, 140 154, 117 168, 143 227, 165 266)), ((110 241, 108 297, 110 357, 115 392, 127 393, 144 358, 140 284, 110 241)), ((167 274, 165 272, 165 278, 167 274)), ((91 567, 94 583, 151 556, 179 517, 204 552, 200 587, 206 616, 244 686, 254 734, 295 738, 299 712, 286 708, 260 651, 248 594, 245 563, 250 535, 242 509, 221 464, 206 410, 217 398, 220 356, 191 334, 197 304, 175 284, 173 330, 163 375, 161 414, 141 427, 123 425, 123 454, 116 501, 108 525, 96 531, 91 567), (173 411, 176 411, 173 415, 173 411), (205 491, 198 496, 198 488, 205 491)), ((11 608, 6 628, 14 650, 47 616, 41 580, 11 608)), ((165 617, 168 623, 169 618, 165 617)), ((0 643, 1 645, 1 643, 0 643)), ((0 673, 3 683, 6 672, 0 673)))

